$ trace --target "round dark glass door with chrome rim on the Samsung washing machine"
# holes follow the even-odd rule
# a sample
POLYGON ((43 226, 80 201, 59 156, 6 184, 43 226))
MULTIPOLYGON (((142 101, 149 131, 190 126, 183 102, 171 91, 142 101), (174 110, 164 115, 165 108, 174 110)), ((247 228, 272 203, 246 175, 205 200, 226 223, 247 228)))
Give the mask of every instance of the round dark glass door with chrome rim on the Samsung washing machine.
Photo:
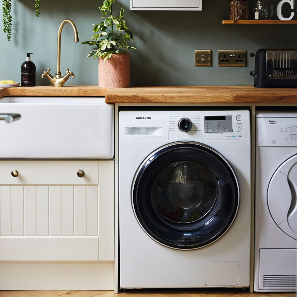
POLYGON ((131 199, 136 219, 152 239, 189 250, 213 243, 229 229, 239 206, 239 185, 216 150, 175 142, 140 165, 131 199))

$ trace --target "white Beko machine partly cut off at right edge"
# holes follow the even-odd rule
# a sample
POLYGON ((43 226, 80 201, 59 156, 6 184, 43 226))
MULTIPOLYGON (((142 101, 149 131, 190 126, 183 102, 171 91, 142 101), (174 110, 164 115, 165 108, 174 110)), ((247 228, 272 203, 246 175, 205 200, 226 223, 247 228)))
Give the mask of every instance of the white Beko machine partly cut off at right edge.
POLYGON ((297 112, 256 114, 256 292, 297 286, 297 112))

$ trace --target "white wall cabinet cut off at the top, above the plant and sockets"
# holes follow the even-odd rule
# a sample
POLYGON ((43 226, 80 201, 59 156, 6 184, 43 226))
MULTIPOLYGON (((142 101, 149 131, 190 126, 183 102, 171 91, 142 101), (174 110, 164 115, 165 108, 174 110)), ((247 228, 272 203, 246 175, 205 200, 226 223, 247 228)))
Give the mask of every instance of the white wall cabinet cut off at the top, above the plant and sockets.
POLYGON ((202 10, 202 0, 130 0, 131 10, 202 10))

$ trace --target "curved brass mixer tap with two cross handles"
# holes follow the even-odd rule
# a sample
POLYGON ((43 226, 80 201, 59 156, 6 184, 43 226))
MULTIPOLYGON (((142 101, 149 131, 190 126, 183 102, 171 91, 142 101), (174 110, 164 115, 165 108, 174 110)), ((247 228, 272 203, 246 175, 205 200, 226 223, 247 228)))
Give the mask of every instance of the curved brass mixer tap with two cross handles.
POLYGON ((72 28, 73 28, 73 32, 74 32, 74 42, 79 42, 79 38, 78 38, 78 33, 77 33, 77 29, 75 27, 75 24, 70 20, 70 19, 65 19, 64 21, 62 21, 59 30, 58 30, 58 41, 57 41, 57 72, 56 72, 56 76, 50 75, 49 71, 50 68, 48 68, 48 70, 43 71, 41 78, 44 78, 45 76, 49 79, 50 82, 53 83, 54 87, 62 87, 63 84, 65 83, 66 80, 68 80, 68 78, 70 76, 72 76, 72 78, 75 78, 74 73, 69 70, 68 68, 66 68, 66 74, 64 76, 62 76, 61 71, 60 71, 60 62, 61 62, 61 33, 62 33, 62 29, 64 27, 64 25, 66 23, 71 24, 72 28))

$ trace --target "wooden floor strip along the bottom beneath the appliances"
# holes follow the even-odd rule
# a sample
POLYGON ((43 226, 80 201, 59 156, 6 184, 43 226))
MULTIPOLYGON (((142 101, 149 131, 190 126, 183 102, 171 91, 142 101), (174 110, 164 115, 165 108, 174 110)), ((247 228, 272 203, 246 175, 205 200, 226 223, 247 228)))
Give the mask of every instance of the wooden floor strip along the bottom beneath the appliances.
POLYGON ((249 293, 241 290, 159 289, 114 291, 0 291, 0 297, 296 297, 296 293, 249 293))

